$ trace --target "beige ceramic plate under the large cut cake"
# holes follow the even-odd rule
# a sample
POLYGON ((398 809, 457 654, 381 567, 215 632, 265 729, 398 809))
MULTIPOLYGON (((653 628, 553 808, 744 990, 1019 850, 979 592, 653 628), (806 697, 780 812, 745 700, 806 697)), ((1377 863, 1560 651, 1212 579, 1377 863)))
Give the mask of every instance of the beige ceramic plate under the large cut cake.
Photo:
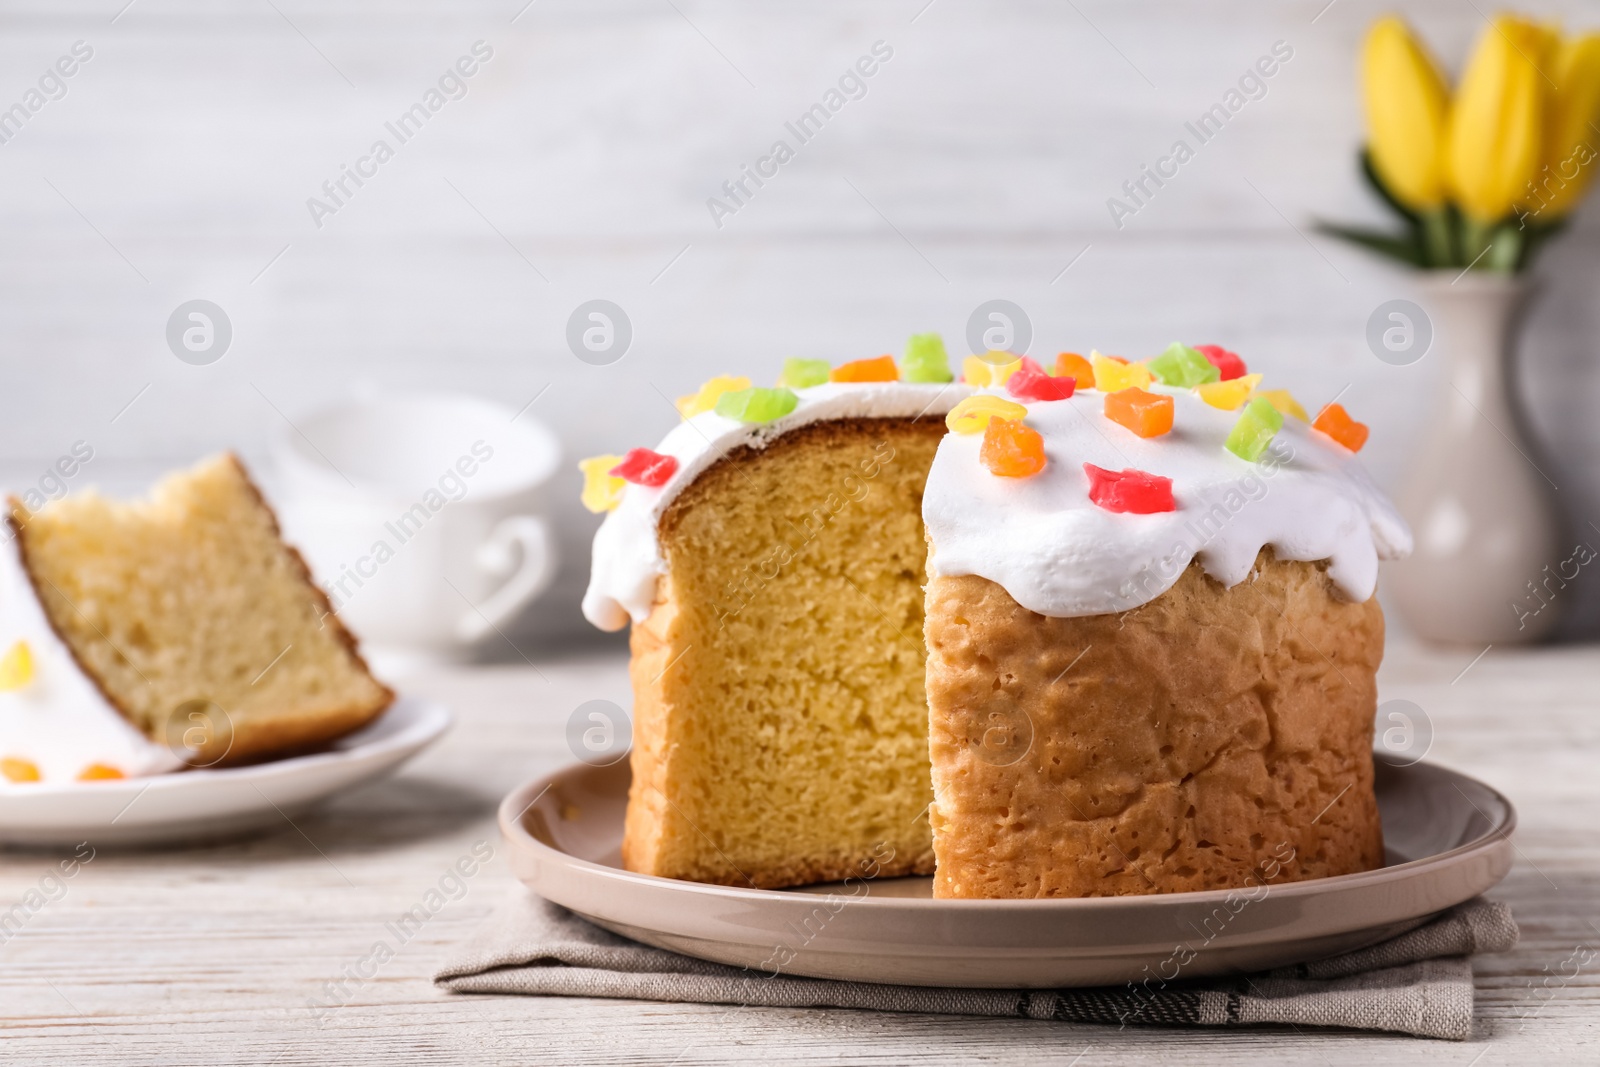
POLYGON ((773 891, 626 872, 627 784, 624 760, 510 793, 499 824, 517 875, 645 944, 766 973, 907 985, 1109 985, 1170 974, 1174 958, 1182 977, 1200 977, 1349 952, 1499 881, 1517 822, 1510 801, 1464 774, 1379 765, 1382 870, 1274 885, 1243 904, 1222 891, 934 901, 931 878, 773 891))

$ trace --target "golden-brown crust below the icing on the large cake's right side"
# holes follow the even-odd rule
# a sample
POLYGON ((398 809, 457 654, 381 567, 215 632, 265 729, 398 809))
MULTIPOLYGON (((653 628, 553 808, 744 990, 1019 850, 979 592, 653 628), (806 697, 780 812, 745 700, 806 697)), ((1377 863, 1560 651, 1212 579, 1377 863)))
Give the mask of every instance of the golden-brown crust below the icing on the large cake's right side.
POLYGON ((1376 598, 1320 563, 1056 619, 928 582, 938 897, 1246 888, 1382 865, 1376 598))

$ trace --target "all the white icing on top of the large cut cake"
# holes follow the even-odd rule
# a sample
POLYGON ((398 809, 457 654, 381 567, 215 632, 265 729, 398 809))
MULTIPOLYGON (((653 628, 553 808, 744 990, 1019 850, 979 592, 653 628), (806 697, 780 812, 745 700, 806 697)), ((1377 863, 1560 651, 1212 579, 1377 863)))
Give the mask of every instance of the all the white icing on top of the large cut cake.
MULTIPOLYGON (((1027 426, 1045 438, 1048 464, 1030 478, 1002 478, 978 459, 981 434, 947 434, 923 494, 933 542, 928 573, 979 574, 1046 616, 1126 611, 1162 595, 1190 560, 1224 585, 1243 581, 1264 545, 1285 560, 1330 560, 1352 600, 1373 595, 1378 560, 1411 550, 1411 533, 1350 453, 1286 418, 1272 453, 1246 462, 1222 442, 1238 419, 1186 389, 1152 386, 1174 400, 1174 429, 1144 440, 1104 416, 1104 394, 1030 402, 1027 426), (1114 514, 1088 499, 1083 464, 1128 467, 1173 480, 1176 512, 1114 514)), ((680 462, 661 488, 629 485, 595 534, 584 616, 618 630, 650 614, 666 573, 656 525, 674 498, 741 445, 819 419, 942 416, 968 386, 829 384, 800 390, 800 406, 765 426, 715 413, 667 434, 656 451, 680 462)), ((982 390, 1005 395, 1003 390, 982 390)))

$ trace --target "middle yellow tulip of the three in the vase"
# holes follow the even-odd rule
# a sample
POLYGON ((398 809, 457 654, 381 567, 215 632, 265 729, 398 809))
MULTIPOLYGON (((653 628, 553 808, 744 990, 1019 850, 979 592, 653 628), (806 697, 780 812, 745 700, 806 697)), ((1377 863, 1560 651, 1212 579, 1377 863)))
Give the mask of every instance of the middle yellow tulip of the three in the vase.
POLYGON ((1445 133, 1445 176, 1480 224, 1507 216, 1542 165, 1546 72, 1555 35, 1496 16, 1461 75, 1445 133))

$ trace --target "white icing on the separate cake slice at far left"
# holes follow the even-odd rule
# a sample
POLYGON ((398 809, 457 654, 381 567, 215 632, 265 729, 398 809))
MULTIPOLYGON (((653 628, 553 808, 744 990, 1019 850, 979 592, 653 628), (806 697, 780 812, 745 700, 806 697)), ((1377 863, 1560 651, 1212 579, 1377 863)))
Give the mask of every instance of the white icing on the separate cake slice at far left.
MULTIPOLYGON (((70 782, 90 763, 106 763, 128 777, 182 766, 165 745, 150 742, 117 712, 78 669, 56 637, 34 585, 22 571, 16 539, 0 525, 0 656, 27 641, 34 678, 0 693, 0 757, 30 760, 43 782, 70 782)), ((0 789, 27 789, 27 782, 0 789)), ((91 789, 86 784, 85 789, 91 789)))

